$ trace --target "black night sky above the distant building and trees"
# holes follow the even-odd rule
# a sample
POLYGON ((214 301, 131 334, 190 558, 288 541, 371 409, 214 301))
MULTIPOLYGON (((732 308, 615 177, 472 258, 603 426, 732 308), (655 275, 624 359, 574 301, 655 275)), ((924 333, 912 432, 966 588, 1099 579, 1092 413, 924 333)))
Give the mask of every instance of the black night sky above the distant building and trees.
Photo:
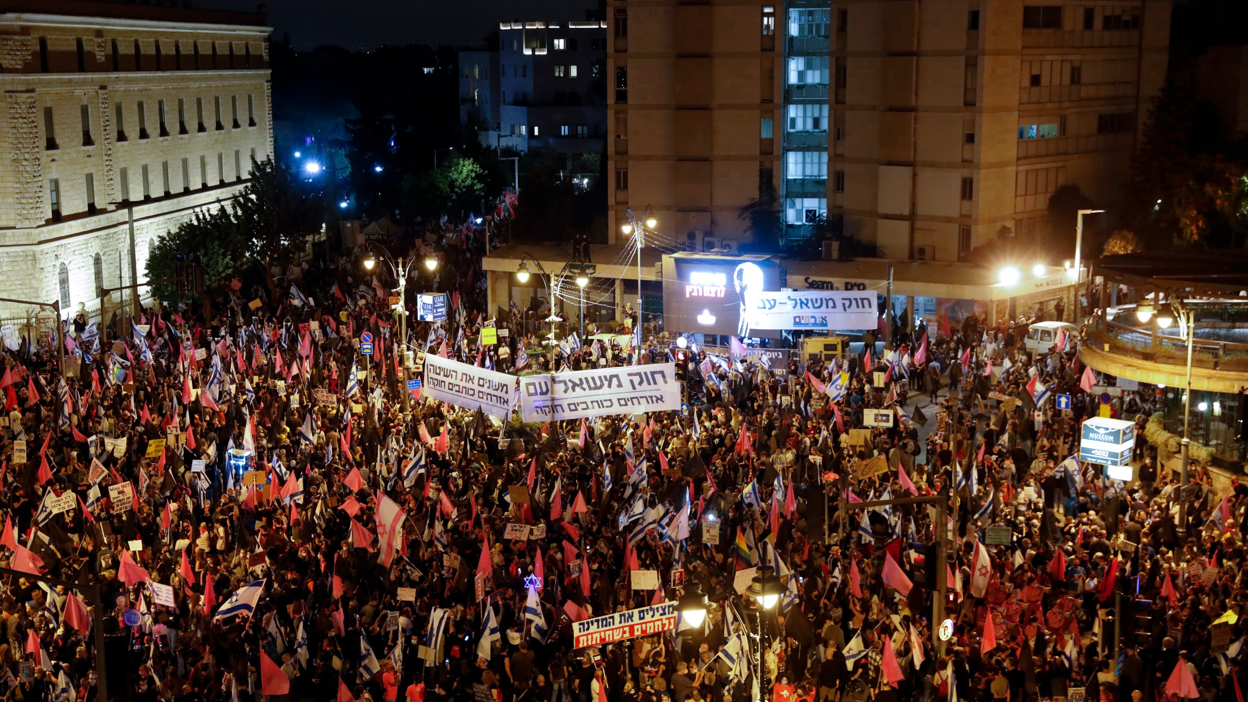
MULTIPOLYGON (((332 44, 479 44, 500 21, 585 19, 595 0, 266 0, 273 39, 296 49, 332 44)), ((255 10, 255 0, 195 0, 197 7, 255 10)))

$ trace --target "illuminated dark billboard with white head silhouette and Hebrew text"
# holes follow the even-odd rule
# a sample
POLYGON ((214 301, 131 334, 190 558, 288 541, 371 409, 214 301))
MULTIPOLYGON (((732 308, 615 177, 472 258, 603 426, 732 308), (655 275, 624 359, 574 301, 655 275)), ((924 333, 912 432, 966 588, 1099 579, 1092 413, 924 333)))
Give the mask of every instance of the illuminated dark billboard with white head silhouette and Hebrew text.
POLYGON ((741 326, 744 295, 780 289, 770 256, 680 252, 663 257, 663 325, 669 332, 779 337, 741 326))

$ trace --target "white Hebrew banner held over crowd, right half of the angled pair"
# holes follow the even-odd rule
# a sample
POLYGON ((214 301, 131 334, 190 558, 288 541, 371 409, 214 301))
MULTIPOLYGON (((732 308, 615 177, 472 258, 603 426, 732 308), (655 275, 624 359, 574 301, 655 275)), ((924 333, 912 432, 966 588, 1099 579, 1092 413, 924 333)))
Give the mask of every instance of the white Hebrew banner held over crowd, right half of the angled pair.
POLYGON ((524 421, 680 410, 675 363, 620 366, 520 378, 524 421))

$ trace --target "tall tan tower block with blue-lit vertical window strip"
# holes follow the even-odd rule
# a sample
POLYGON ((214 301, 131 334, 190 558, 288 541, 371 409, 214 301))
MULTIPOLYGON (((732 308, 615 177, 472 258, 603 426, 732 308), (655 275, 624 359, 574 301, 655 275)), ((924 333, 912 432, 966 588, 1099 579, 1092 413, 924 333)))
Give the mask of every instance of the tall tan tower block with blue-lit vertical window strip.
POLYGON ((653 205, 678 240, 741 240, 758 175, 789 236, 826 216, 882 257, 958 261, 1062 185, 1112 207, 1171 2, 1031 1, 610 0, 614 221, 653 205))

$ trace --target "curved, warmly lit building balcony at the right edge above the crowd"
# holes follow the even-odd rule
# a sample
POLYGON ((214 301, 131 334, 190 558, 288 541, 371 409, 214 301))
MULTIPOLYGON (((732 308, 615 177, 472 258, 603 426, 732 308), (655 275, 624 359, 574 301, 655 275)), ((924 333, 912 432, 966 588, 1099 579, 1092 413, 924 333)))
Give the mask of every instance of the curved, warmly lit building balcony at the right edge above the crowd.
MULTIPOLYGON (((1243 301, 1189 301, 1196 311, 1192 388, 1239 392, 1248 386, 1248 306, 1243 301)), ((1129 380, 1183 387, 1187 341, 1177 325, 1144 324, 1134 305, 1101 310, 1088 319, 1080 358, 1097 371, 1129 380)))

